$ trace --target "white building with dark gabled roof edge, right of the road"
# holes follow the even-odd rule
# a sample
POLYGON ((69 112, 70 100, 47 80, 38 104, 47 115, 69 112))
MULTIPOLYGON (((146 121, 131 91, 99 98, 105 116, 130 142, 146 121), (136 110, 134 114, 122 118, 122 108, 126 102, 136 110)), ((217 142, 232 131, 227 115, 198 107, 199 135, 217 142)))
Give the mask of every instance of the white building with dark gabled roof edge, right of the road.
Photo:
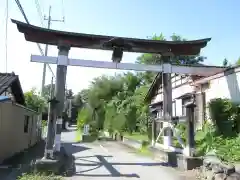
MULTIPOLYGON (((150 107, 156 109, 157 117, 163 115, 161 79, 162 76, 159 73, 146 96, 146 100, 150 102, 150 107)), ((210 100, 229 98, 234 102, 240 102, 239 84, 240 67, 228 68, 221 73, 208 77, 172 74, 172 115, 185 116, 184 105, 191 100, 192 96, 195 96, 197 105, 195 108, 196 126, 201 128, 208 114, 207 104, 210 100)))

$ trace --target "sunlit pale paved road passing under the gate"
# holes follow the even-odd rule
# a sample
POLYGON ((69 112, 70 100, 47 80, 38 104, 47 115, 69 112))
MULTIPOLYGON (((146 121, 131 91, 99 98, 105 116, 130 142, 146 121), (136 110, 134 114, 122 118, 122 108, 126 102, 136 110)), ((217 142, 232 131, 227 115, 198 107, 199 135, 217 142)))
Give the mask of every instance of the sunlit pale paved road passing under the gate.
MULTIPOLYGON (((64 132, 63 142, 70 145, 75 134, 74 131, 64 132)), ((76 157, 76 174, 67 180, 184 179, 174 169, 164 167, 163 163, 137 155, 116 142, 79 143, 70 147, 67 145, 67 151, 72 151, 76 157)))

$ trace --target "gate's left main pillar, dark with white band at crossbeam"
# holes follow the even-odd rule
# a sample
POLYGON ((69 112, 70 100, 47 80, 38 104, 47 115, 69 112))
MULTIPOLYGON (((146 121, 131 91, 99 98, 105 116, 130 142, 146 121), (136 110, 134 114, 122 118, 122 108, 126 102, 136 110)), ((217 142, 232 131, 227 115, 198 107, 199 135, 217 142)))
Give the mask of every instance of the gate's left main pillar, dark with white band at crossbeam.
POLYGON ((61 131, 63 122, 63 110, 65 101, 65 85, 67 76, 67 65, 68 65, 68 53, 70 50, 69 46, 59 45, 58 46, 58 65, 56 73, 56 84, 55 84, 55 97, 59 101, 56 106, 56 136, 55 136, 55 151, 60 152, 61 149, 61 131))

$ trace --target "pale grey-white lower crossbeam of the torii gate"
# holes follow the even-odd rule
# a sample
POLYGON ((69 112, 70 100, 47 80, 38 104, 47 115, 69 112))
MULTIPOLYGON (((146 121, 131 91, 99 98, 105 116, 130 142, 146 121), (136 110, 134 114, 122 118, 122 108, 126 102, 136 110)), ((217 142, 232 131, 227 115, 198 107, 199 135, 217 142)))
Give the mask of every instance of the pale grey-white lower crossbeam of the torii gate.
POLYGON ((59 64, 66 66, 82 66, 105 69, 152 71, 164 73, 190 74, 199 76, 210 76, 222 72, 224 68, 214 66, 184 66, 164 63, 161 65, 145 65, 135 63, 115 63, 109 61, 94 61, 83 59, 66 59, 65 57, 31 55, 31 62, 59 64))

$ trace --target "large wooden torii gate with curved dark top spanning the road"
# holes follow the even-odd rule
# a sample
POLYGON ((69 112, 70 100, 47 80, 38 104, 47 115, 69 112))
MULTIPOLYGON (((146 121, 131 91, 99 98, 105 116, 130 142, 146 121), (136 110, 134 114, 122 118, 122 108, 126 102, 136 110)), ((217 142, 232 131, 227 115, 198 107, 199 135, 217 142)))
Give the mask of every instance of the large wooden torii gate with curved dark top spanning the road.
MULTIPOLYGON (((221 67, 211 66, 185 66, 170 64, 170 59, 178 55, 197 55, 200 50, 207 45, 210 38, 194 40, 194 41, 158 41, 135 39, 125 37, 102 36, 82 33, 71 33, 50 30, 33 25, 29 25, 20 21, 12 20, 17 25, 19 32, 24 33, 27 41, 55 45, 58 47, 58 57, 32 55, 31 62, 41 62, 49 64, 57 64, 56 72, 56 88, 55 100, 59 103, 54 105, 52 101, 53 113, 52 118, 48 120, 48 135, 46 142, 45 157, 50 158, 53 153, 54 132, 50 132, 54 124, 57 124, 55 147, 56 152, 60 151, 61 143, 61 123, 62 111, 64 104, 65 82, 67 66, 83 66, 93 68, 135 70, 135 71, 153 71, 163 73, 163 110, 164 118, 171 122, 172 120, 172 84, 171 73, 191 74, 209 76, 223 70, 221 67), (112 61, 94 61, 82 59, 70 59, 68 53, 71 47, 111 50, 112 61), (161 65, 142 65, 134 63, 121 63, 123 52, 137 53, 156 53, 161 54, 164 63, 161 65)), ((171 132, 168 133, 171 137, 171 132)), ((169 138, 170 139, 170 138, 169 138)), ((169 141, 169 139, 167 141, 169 141)), ((169 145, 170 141, 169 141, 169 145)))

